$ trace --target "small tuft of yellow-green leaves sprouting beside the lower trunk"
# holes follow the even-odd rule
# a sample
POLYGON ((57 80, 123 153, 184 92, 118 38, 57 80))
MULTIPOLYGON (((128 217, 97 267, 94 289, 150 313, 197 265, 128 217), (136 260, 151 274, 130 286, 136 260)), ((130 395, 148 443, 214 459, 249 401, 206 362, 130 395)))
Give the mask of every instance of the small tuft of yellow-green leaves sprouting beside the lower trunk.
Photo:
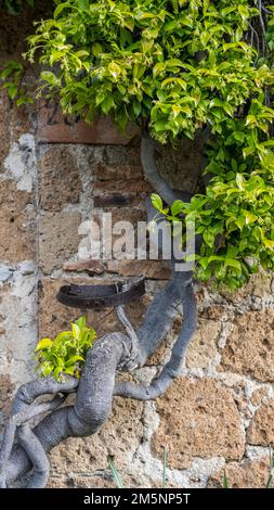
POLYGON ((63 331, 54 340, 42 339, 35 349, 36 369, 42 377, 52 374, 57 381, 64 373, 80 377, 87 352, 96 337, 93 329, 86 327, 86 318, 71 323, 70 331, 63 331))

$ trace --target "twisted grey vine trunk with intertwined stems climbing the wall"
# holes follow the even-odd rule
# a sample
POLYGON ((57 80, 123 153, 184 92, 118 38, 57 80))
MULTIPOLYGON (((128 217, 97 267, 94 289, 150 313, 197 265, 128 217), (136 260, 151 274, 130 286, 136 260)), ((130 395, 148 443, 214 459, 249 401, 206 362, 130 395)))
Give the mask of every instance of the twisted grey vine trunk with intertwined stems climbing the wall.
MULTIPOLYGON (((178 197, 157 174, 153 142, 142 141, 142 163, 146 178, 167 203, 178 197)), ((21 386, 6 422, 0 451, 0 486, 6 487, 29 473, 27 487, 44 487, 49 476, 47 452, 67 437, 94 434, 108 419, 114 395, 141 400, 161 395, 172 380, 180 374, 185 348, 196 329, 196 303, 192 273, 175 272, 171 262, 172 277, 154 297, 144 321, 135 332, 121 306, 117 308, 126 333, 109 333, 99 339, 88 352, 80 381, 66 377, 58 383, 52 377, 37 379, 21 386), (117 370, 142 367, 148 356, 169 331, 183 305, 184 321, 174 343, 170 360, 149 386, 128 382, 115 383, 117 370), (63 405, 66 396, 76 392, 74 406, 63 405), (42 395, 53 399, 37 403, 42 395), (31 420, 48 413, 31 429, 31 420)))

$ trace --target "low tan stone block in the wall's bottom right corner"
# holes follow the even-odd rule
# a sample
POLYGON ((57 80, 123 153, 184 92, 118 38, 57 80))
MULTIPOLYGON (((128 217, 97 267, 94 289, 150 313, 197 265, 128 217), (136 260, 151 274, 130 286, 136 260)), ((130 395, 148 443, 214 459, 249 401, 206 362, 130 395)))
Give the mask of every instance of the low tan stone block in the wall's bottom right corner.
MULTIPOLYGON (((244 462, 230 462, 225 466, 225 474, 230 488, 264 488, 269 477, 269 459, 245 460, 244 462)), ((208 482, 209 488, 223 488, 223 473, 220 471, 212 475, 208 482)))

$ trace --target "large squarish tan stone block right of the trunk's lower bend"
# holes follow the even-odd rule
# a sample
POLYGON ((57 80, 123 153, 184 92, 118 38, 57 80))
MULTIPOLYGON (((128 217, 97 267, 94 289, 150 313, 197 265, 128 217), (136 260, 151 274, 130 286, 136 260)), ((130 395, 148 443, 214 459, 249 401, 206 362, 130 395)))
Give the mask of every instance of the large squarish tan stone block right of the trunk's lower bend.
POLYGON ((240 418, 232 394, 211 379, 178 379, 157 400, 160 424, 152 445, 168 448, 171 468, 191 466, 193 457, 239 460, 245 450, 240 418))

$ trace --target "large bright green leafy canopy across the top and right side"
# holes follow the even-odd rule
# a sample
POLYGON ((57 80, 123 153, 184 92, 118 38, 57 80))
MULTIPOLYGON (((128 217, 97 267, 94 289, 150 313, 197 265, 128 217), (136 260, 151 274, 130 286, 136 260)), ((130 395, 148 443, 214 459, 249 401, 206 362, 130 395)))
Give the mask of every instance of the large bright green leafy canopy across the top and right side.
POLYGON ((206 190, 166 214, 196 222, 197 278, 236 289, 259 265, 273 270, 273 2, 54 3, 29 38, 40 93, 87 122, 102 112, 121 128, 138 122, 161 143, 207 127, 206 190))

